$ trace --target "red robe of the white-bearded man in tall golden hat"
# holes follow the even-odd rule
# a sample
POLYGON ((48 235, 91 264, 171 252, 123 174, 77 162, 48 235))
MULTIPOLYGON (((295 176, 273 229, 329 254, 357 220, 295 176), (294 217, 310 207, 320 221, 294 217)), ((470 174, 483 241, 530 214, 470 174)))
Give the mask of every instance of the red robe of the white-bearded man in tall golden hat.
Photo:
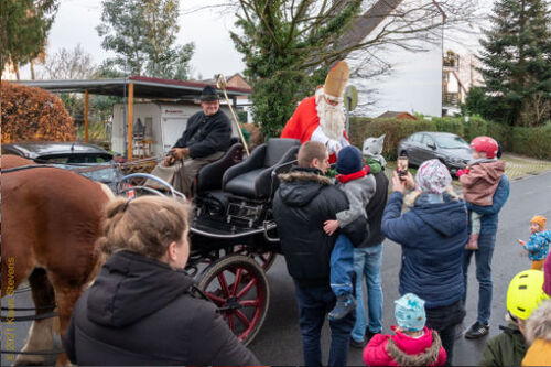
MULTIPOLYGON (((287 121, 283 131, 281 131, 281 138, 299 139, 301 144, 310 141, 315 129, 320 126, 320 117, 317 116, 315 95, 309 98, 304 98, 296 109, 293 116, 287 121)), ((343 130, 343 136, 346 137, 346 132, 343 130)), ((336 154, 329 155, 329 163, 335 163, 337 161, 336 154)))

